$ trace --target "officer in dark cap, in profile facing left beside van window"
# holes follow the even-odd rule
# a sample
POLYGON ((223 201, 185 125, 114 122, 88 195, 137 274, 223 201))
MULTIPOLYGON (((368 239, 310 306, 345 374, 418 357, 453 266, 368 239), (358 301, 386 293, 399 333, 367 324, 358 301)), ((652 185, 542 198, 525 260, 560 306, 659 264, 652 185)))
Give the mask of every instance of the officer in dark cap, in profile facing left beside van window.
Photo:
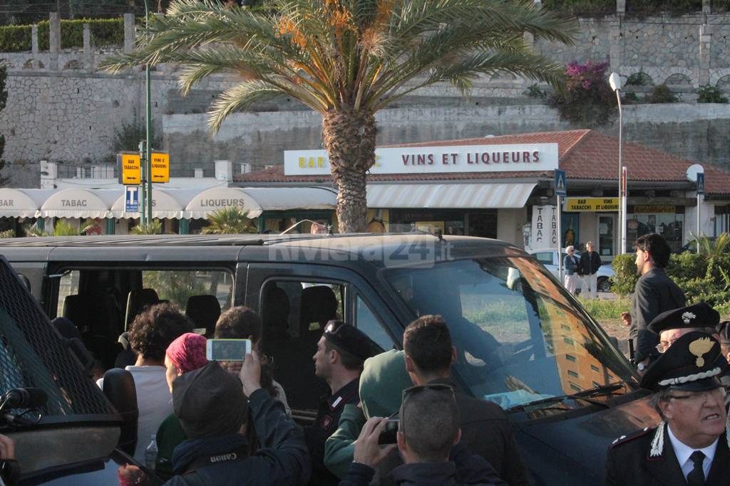
POLYGON ((331 395, 323 397, 317 419, 304 429, 312 458, 310 485, 337 485, 339 479, 324 465, 324 444, 334 434, 346 404, 358 404, 360 374, 366 358, 380 350, 365 334, 342 321, 329 321, 317 343, 315 375, 327 382, 331 395))

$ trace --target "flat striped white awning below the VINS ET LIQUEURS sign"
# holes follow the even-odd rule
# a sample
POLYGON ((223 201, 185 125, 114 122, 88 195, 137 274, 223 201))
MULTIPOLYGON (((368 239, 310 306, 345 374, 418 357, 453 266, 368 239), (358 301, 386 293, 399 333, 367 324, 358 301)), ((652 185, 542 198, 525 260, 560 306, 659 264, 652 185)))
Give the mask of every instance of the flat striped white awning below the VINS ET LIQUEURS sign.
POLYGON ((368 184, 368 208, 523 208, 536 182, 368 184))

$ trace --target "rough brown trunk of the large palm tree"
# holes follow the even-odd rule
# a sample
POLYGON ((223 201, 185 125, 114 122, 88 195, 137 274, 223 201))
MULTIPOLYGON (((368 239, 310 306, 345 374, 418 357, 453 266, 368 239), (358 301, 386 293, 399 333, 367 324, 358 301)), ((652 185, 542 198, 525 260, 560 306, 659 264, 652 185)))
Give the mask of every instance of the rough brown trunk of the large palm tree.
POLYGON ((322 136, 337 184, 340 232, 362 232, 367 226, 366 173, 375 162, 375 117, 349 107, 324 114, 322 136))

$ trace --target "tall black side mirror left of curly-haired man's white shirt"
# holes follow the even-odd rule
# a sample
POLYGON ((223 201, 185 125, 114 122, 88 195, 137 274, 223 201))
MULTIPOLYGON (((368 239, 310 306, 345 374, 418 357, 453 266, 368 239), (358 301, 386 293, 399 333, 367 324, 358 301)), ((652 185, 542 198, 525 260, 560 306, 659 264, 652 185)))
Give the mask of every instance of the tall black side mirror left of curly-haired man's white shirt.
POLYGON ((139 420, 134 377, 126 369, 112 368, 104 373, 103 391, 123 420, 118 446, 128 455, 134 455, 134 450, 137 448, 137 420, 139 420))

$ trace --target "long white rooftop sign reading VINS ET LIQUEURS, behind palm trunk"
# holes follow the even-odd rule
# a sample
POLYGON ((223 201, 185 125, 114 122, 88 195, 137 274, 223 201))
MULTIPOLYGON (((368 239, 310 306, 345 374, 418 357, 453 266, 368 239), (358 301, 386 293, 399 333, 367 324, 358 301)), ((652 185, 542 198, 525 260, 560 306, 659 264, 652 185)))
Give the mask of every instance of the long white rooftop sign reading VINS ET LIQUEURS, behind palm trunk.
MULTIPOLYGON (((373 174, 553 171, 558 144, 391 147, 375 150, 373 174)), ((330 173, 326 150, 286 150, 287 176, 330 173)))

